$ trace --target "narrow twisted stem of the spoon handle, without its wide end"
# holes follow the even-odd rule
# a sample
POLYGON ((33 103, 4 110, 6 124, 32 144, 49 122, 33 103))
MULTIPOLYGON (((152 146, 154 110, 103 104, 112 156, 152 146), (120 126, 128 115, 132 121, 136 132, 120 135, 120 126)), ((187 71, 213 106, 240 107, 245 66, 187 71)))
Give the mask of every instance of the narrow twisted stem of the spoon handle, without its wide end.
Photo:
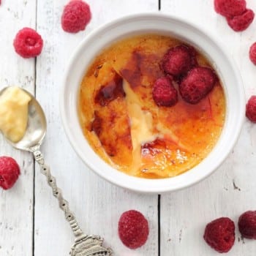
POLYGON ((56 178, 54 178, 50 173, 50 167, 45 165, 45 159, 39 151, 39 148, 31 148, 31 151, 34 154, 34 159, 39 163, 41 173, 46 176, 49 186, 53 190, 53 195, 59 200, 59 207, 62 211, 64 211, 65 218, 69 222, 69 225, 75 235, 75 237, 82 236, 83 231, 80 229, 77 220, 75 219, 74 214, 69 209, 69 203, 62 196, 61 189, 57 187, 56 178))

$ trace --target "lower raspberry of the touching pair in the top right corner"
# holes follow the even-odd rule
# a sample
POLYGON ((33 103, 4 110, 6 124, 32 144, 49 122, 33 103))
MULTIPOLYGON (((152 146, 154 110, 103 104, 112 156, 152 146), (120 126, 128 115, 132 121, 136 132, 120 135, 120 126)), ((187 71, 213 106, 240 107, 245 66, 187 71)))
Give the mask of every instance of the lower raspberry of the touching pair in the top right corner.
POLYGON ((241 15, 234 16, 232 18, 227 18, 227 24, 234 31, 244 31, 252 23, 255 18, 255 12, 248 9, 241 15))

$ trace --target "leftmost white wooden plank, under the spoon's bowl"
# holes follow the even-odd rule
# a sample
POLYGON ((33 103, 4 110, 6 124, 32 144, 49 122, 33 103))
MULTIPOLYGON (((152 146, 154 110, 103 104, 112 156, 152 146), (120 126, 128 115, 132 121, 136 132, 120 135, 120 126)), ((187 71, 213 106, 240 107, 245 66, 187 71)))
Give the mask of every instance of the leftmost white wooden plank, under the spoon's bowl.
MULTIPOLYGON (((18 30, 35 27, 34 0, 2 1, 0 6, 0 89, 16 85, 34 93, 34 59, 23 59, 12 46, 18 30)), ((34 162, 31 154, 13 149, 0 136, 0 156, 20 165, 20 178, 10 190, 0 189, 0 255, 32 255, 34 162)))

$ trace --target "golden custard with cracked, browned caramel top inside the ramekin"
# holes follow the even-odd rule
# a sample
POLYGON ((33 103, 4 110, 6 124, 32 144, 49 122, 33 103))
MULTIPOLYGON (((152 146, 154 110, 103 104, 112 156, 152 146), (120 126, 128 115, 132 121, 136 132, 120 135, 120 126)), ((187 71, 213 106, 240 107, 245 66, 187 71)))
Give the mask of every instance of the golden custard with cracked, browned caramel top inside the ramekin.
MULTIPOLYGON (((219 139, 225 94, 218 81, 199 103, 178 95, 173 107, 159 107, 152 86, 173 37, 146 34, 116 42, 94 59, 80 85, 80 124, 94 151, 124 173, 143 178, 177 176, 200 163, 219 139)), ((211 67, 196 52, 197 64, 211 67)), ((178 85, 175 84, 176 89, 178 85)))

